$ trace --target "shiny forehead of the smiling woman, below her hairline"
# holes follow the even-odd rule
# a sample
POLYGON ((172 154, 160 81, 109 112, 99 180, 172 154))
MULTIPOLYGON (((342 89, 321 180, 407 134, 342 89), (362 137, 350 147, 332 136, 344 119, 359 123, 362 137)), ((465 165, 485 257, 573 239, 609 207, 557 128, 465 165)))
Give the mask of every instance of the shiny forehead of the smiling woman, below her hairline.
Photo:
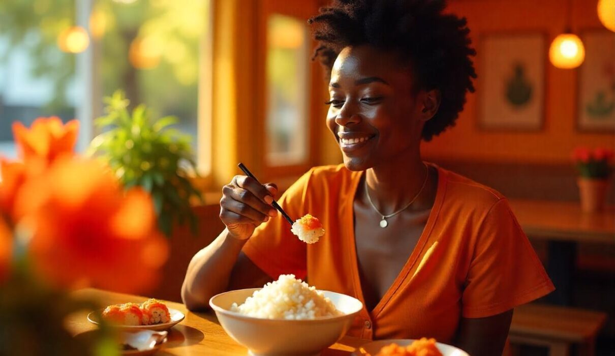
POLYGON ((344 48, 331 68, 331 83, 361 77, 380 77, 391 84, 411 78, 409 66, 402 65, 394 53, 370 45, 344 48))

